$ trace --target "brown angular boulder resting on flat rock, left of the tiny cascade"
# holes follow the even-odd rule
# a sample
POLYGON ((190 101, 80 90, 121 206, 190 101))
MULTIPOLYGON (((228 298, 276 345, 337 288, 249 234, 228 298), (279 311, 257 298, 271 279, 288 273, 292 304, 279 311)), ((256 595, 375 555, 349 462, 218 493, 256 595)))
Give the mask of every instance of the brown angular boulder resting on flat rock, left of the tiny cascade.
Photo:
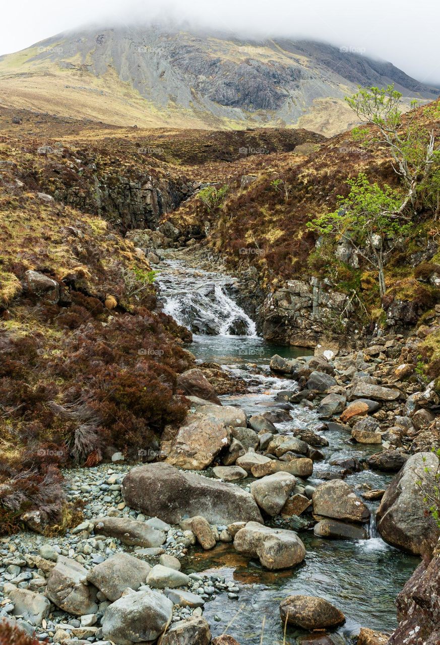
POLYGON ((348 522, 367 522, 370 511, 351 486, 340 479, 319 484, 312 495, 315 515, 348 522))

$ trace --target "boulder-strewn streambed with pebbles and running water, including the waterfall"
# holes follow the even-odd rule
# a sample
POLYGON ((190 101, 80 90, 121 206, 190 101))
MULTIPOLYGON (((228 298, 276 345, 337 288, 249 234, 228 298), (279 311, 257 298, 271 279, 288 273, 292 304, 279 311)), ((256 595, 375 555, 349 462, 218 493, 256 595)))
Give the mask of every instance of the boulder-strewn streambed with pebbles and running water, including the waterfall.
POLYGON ((229 279, 194 270, 182 289, 168 268, 165 306, 205 332, 188 346, 200 366, 179 377, 190 412, 159 453, 139 446, 140 463, 65 471, 85 508, 64 537, 0 540, 0 617, 68 645, 385 644, 438 538, 416 484, 435 467, 436 395, 403 378, 405 339, 279 348, 229 279), (215 392, 213 364, 239 392, 215 392))

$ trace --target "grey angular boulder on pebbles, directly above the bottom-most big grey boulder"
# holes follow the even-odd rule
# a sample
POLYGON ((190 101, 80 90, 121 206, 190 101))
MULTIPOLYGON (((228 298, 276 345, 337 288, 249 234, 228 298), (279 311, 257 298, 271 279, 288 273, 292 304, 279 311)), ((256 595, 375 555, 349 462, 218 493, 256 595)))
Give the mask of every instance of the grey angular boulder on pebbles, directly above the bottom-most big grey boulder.
POLYGON ((117 553, 94 566, 88 572, 87 580, 92 582, 106 598, 114 602, 121 597, 127 587, 137 591, 145 584, 150 569, 147 562, 129 553, 117 553))

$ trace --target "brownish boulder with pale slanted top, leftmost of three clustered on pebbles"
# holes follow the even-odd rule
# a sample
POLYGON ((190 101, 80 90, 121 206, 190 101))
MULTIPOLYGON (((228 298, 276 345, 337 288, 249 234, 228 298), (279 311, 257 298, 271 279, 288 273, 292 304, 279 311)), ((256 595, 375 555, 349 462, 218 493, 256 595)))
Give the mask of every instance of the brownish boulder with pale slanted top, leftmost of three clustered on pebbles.
POLYGON ((59 555, 47 581, 46 596, 68 613, 83 616, 95 613, 97 589, 87 582, 88 571, 82 564, 59 555))

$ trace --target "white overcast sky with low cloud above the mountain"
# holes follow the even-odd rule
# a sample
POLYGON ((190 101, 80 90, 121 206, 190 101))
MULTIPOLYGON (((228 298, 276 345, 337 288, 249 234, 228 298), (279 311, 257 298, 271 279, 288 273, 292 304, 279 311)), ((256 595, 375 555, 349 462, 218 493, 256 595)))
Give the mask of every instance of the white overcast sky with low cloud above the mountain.
POLYGON ((238 34, 308 37, 391 61, 440 83, 440 0, 3 0, 0 54, 63 30, 151 20, 162 13, 238 34))

